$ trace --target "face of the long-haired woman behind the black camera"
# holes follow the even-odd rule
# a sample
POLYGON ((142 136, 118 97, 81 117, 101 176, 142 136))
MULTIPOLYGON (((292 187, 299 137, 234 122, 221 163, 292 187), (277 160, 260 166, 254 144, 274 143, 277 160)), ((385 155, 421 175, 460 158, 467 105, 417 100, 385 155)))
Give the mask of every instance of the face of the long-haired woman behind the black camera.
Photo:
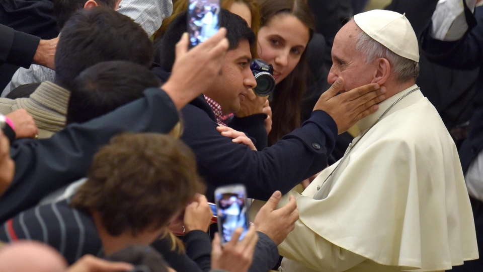
POLYGON ((295 68, 309 40, 308 28, 290 14, 274 16, 258 33, 258 55, 273 65, 278 84, 295 68))

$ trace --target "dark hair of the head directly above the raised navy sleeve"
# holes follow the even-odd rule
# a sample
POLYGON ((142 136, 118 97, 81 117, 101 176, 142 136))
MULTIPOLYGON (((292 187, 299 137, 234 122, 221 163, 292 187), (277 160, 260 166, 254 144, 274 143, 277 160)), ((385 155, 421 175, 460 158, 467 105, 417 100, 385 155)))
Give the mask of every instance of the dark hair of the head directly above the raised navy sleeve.
POLYGON ((159 85, 159 79, 142 65, 124 60, 97 63, 72 82, 66 124, 104 115, 159 85))

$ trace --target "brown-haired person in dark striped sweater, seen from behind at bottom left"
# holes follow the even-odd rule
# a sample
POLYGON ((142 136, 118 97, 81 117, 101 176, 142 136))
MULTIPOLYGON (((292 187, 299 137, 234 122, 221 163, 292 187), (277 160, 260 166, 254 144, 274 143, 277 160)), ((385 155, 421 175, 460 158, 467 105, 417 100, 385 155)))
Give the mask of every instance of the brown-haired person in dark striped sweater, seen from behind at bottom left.
POLYGON ((87 181, 67 200, 22 212, 0 240, 39 240, 73 263, 147 245, 204 185, 195 156, 169 135, 121 134, 95 155, 87 181))

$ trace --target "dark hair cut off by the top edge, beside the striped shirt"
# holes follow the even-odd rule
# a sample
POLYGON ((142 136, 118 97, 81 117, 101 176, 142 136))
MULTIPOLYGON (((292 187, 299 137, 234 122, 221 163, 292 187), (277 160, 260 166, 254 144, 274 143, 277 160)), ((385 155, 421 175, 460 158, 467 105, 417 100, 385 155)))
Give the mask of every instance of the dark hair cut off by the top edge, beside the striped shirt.
MULTIPOLYGON (((57 27, 61 30, 65 22, 69 20, 74 12, 81 10, 86 5, 88 0, 53 0, 54 10, 53 14, 57 19, 57 27)), ((96 0, 96 3, 101 7, 107 7, 112 10, 116 7, 116 0, 96 0)))

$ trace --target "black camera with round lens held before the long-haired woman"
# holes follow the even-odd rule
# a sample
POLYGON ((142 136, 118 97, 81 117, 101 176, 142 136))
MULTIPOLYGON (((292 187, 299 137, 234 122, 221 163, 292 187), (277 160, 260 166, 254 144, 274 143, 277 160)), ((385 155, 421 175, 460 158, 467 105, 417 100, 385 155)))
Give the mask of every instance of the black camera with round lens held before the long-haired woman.
POLYGON ((256 58, 250 62, 250 69, 257 81, 257 87, 253 89, 258 96, 267 96, 275 89, 273 78, 273 66, 263 59, 256 58))

